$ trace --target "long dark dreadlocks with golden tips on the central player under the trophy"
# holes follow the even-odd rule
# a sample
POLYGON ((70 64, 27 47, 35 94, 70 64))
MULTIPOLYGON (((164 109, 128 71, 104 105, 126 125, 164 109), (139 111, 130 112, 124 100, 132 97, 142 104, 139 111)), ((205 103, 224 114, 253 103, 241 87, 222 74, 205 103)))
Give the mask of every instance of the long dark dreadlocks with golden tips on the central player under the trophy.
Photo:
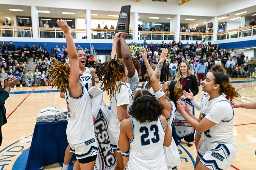
MULTIPOLYGON (((106 61, 104 63, 98 64, 96 66, 103 65, 98 72, 98 77, 102 78, 102 87, 104 85, 103 91, 107 91, 107 95, 110 95, 110 97, 114 93, 117 92, 118 86, 116 85, 116 82, 119 81, 121 83, 121 79, 124 76, 125 72, 125 64, 124 61, 116 58, 112 59, 110 58, 109 61, 106 61)), ((124 82, 125 83, 125 82, 124 82)), ((125 83, 126 85, 126 83, 125 83)), ((119 86, 118 92, 121 90, 121 85, 119 86)))

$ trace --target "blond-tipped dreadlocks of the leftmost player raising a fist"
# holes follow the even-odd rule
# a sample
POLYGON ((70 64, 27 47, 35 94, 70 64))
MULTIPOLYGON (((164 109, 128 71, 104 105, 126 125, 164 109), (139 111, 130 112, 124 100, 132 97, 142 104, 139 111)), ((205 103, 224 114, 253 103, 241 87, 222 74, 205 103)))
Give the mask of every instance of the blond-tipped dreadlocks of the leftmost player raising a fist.
POLYGON ((49 67, 47 73, 49 74, 48 83, 51 83, 51 88, 57 87, 57 91, 61 93, 66 92, 66 84, 68 84, 68 76, 70 74, 70 68, 67 63, 59 62, 56 59, 52 59, 53 66, 49 67))

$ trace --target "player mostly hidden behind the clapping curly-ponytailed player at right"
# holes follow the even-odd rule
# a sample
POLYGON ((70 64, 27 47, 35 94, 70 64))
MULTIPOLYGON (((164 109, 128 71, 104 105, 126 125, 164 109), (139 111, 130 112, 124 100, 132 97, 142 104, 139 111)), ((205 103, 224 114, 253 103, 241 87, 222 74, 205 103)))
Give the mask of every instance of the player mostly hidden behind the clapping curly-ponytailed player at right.
MULTIPOLYGON (((223 73, 223 74, 226 74, 226 70, 225 68, 222 66, 222 65, 213 65, 210 72, 214 73, 214 72, 218 72, 218 73, 223 73)), ((206 74, 206 76, 210 73, 208 72, 206 74)), ((183 90, 183 94, 186 98, 190 99, 191 103, 196 107, 197 110, 200 110, 201 109, 201 102, 202 100, 205 98, 205 97, 208 97, 209 94, 202 91, 201 93, 201 97, 199 99, 199 102, 197 102, 194 98, 194 95, 192 93, 192 91, 190 89, 188 89, 190 93, 186 92, 185 90, 183 90)), ((196 132, 196 135, 195 135, 195 145, 196 145, 196 153, 198 153, 200 147, 202 146, 204 142, 204 132, 202 133, 199 133, 199 132, 196 132)))

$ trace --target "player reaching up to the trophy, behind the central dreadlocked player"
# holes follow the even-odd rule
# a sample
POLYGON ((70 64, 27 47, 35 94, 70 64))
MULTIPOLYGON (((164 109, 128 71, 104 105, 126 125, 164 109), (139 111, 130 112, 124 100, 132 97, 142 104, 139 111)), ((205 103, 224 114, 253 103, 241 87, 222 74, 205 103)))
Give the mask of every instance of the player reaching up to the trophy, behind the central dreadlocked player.
POLYGON ((141 64, 136 58, 132 58, 131 51, 125 42, 129 35, 124 32, 118 35, 120 36, 120 40, 117 42, 117 57, 124 61, 128 70, 126 82, 129 83, 134 94, 140 82, 138 75, 140 74, 141 64))

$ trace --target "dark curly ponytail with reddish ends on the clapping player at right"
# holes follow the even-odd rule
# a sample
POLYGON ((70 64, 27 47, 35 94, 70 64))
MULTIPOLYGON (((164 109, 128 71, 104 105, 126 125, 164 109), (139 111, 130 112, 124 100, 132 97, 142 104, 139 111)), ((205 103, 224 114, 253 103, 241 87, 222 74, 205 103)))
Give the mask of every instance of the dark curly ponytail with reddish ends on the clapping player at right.
POLYGON ((226 98, 230 101, 234 101, 235 97, 238 97, 238 93, 235 88, 230 84, 227 75, 223 73, 213 73, 215 84, 220 85, 220 93, 224 93, 226 98))

